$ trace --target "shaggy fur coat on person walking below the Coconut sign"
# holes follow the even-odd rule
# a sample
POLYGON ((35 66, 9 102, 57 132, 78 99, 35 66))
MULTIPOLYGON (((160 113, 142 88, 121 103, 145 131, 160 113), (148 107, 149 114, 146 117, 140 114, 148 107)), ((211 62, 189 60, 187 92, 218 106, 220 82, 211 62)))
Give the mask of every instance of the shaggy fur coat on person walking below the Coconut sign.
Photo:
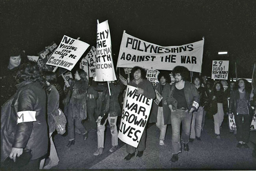
POLYGON ((67 114, 71 115, 73 119, 82 121, 87 118, 87 88, 87 81, 80 79, 74 82, 72 96, 67 109, 67 114))

